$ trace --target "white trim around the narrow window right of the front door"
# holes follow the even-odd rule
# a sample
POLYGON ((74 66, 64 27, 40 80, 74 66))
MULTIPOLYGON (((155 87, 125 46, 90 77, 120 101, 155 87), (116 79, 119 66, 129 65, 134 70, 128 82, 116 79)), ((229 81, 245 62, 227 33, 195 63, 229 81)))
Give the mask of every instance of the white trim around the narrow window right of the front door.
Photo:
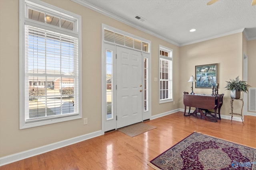
POLYGON ((162 103, 167 103, 167 102, 173 102, 173 50, 168 48, 168 47, 164 47, 162 45, 159 45, 159 50, 158 50, 158 55, 159 55, 159 63, 158 63, 158 70, 159 70, 159 104, 162 103), (172 57, 163 57, 162 55, 160 55, 159 51, 163 50, 163 51, 168 51, 170 53, 172 53, 172 57), (162 99, 160 100, 160 59, 166 59, 166 60, 170 60, 172 61, 172 98, 171 99, 162 99))

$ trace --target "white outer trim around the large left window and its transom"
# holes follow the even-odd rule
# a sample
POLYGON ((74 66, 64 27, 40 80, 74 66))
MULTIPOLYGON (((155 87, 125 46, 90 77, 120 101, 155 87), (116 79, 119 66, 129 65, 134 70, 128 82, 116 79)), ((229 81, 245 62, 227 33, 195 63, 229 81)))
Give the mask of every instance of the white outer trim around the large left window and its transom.
MULTIPOLYGON (((72 12, 68 12, 66 10, 63 10, 61 8, 58 8, 56 6, 52 6, 50 4, 47 4, 45 2, 42 2, 40 0, 20 0, 19 1, 19 16, 20 16, 20 22, 19 22, 19 55, 20 55, 20 129, 26 129, 30 127, 37 127, 37 126, 42 126, 42 125, 48 125, 52 123, 58 123, 58 122, 63 122, 63 121, 70 121, 74 119, 81 119, 82 118, 82 96, 78 96, 78 115, 73 115, 73 116, 67 116, 67 117, 61 117, 61 118, 55 118, 55 119, 46 119, 42 121, 34 121, 31 123, 26 123, 25 122, 25 21, 26 21, 26 8, 25 8, 25 3, 32 4, 35 6, 43 6, 44 8, 48 10, 54 10, 58 11, 59 14, 65 14, 68 16, 73 16, 76 18, 77 22, 74 27, 77 28, 78 33, 76 34, 76 37, 78 37, 78 90, 79 93, 82 94, 82 17, 74 14, 72 12)), ((52 27, 52 25, 49 25, 52 27)), ((54 27, 52 27, 54 29, 54 27)), ((70 31, 70 35, 75 35, 70 31)))

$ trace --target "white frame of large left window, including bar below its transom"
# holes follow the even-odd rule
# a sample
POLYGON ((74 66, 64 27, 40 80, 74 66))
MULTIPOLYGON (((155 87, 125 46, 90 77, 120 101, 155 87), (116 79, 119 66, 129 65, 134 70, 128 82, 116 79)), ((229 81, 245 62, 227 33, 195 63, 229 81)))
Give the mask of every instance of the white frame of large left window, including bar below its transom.
MULTIPOLYGON (((19 45, 20 45, 20 129, 26 129, 30 127, 37 127, 42 125, 48 125, 52 123, 58 123, 63 121, 70 121, 74 119, 82 118, 82 17, 68 12, 56 6, 52 6, 45 2, 39 0, 20 0, 19 2, 19 16, 20 16, 20 26, 19 26, 19 45), (63 19, 69 19, 69 21, 74 21, 74 31, 68 30, 62 27, 56 27, 54 25, 42 23, 40 21, 35 21, 28 18, 28 8, 32 7, 34 10, 40 9, 41 12, 48 12, 55 16, 63 16, 63 19), (54 31, 61 34, 78 38, 78 92, 77 95, 77 109, 78 113, 74 115, 52 117, 49 119, 39 119, 38 121, 26 121, 26 55, 25 55, 25 26, 30 25, 38 27, 40 29, 45 29, 46 31, 54 31)), ((31 9, 31 8, 30 8, 31 9)), ((74 91, 76 91, 74 89, 74 91)), ((74 94, 75 95, 75 94, 74 94)), ((75 96, 75 97, 76 97, 75 96)))

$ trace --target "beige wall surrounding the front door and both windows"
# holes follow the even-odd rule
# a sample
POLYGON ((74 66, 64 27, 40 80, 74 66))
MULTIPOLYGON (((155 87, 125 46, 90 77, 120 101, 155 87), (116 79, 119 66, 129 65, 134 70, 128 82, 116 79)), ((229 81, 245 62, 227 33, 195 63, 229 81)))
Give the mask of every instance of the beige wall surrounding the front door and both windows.
MULTIPOLYGON (((78 119, 19 130, 19 3, 18 0, 0 0, 0 157, 101 130, 102 23, 152 41, 153 78, 159 79, 159 45, 173 49, 174 61, 179 63, 179 47, 176 45, 70 0, 45 2, 82 16, 82 115, 88 118, 88 125, 83 125, 83 120, 78 119)), ((174 79, 179 78, 178 69, 178 64, 174 65, 174 70, 177 70, 174 79)), ((178 88, 179 82, 176 81, 174 89, 178 88)), ((152 82, 152 115, 179 108, 178 104, 158 104, 158 89, 159 82, 152 82)), ((174 99, 178 98, 177 90, 174 99)))

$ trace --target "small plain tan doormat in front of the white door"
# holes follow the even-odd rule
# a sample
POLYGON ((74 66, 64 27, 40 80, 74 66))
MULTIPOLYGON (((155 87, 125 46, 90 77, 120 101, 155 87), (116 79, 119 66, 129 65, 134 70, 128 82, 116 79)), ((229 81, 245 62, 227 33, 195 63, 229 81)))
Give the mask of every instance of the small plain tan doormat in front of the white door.
POLYGON ((135 137, 137 135, 140 135, 142 133, 145 133, 147 131, 150 131, 152 129, 155 129, 156 127, 148 125, 146 123, 137 123, 134 125, 130 125, 121 129, 118 129, 118 131, 129 135, 130 137, 135 137))

